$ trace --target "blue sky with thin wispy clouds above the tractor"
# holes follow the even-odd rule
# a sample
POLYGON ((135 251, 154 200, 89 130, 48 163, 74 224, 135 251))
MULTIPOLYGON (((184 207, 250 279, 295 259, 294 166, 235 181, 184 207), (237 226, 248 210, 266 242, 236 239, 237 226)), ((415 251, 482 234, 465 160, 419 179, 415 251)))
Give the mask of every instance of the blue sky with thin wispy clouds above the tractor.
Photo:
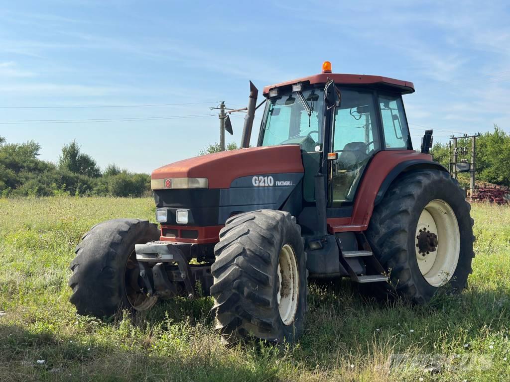
MULTIPOLYGON (((103 168, 150 172, 218 141, 209 107, 244 106, 249 79, 262 91, 324 60, 413 81, 415 148, 425 128, 438 141, 510 131, 509 19, 507 1, 5 2, 0 135, 39 142, 50 161, 76 139, 103 168), (171 105, 74 107, 148 104, 171 105), (122 121, 69 121, 105 119, 122 121)), ((242 116, 232 121, 227 142, 239 143, 242 116)))

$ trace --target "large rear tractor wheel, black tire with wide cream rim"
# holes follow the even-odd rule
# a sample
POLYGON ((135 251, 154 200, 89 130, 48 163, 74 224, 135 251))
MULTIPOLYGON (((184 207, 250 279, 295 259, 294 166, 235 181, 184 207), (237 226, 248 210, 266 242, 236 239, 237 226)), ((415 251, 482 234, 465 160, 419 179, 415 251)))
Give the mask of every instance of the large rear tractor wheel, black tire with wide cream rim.
POLYGON ((424 304, 440 287, 465 288, 474 257, 470 209, 444 171, 410 172, 391 185, 374 208, 366 237, 390 271, 393 291, 424 304))

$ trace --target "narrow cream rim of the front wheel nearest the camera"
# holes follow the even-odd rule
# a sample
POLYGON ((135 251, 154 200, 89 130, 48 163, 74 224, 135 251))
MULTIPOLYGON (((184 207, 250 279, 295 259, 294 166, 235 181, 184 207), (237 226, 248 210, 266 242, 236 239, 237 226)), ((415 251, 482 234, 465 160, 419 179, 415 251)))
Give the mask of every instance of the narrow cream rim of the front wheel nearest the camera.
POLYGON ((285 244, 278 257, 278 312, 285 325, 294 321, 299 296, 299 272, 294 249, 285 244))

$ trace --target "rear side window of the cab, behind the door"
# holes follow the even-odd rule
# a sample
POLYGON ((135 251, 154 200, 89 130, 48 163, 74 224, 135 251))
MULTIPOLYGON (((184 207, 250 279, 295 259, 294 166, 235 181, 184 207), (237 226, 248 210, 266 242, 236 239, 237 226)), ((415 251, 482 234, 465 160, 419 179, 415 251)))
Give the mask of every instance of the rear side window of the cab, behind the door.
POLYGON ((409 129, 400 95, 379 95, 382 128, 387 149, 410 149, 409 129))

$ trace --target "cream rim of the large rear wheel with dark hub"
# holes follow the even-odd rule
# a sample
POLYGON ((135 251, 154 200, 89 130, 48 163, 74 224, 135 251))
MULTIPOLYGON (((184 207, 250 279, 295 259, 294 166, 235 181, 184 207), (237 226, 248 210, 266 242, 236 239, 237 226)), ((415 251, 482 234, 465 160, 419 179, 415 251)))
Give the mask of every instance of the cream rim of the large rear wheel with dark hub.
POLYGON ((453 209, 444 200, 428 203, 420 214, 415 234, 420 272, 432 286, 452 278, 461 250, 461 235, 453 209))

